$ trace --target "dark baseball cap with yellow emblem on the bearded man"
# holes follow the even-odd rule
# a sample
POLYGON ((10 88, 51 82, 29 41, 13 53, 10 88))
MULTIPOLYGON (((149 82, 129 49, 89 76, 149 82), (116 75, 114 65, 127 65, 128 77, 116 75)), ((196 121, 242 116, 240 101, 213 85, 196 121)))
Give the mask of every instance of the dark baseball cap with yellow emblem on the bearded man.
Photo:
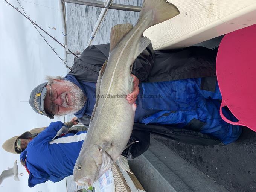
POLYGON ((50 119, 54 119, 52 114, 46 113, 46 111, 44 110, 44 99, 47 93, 46 85, 47 82, 42 83, 31 91, 29 104, 38 114, 45 115, 50 119))

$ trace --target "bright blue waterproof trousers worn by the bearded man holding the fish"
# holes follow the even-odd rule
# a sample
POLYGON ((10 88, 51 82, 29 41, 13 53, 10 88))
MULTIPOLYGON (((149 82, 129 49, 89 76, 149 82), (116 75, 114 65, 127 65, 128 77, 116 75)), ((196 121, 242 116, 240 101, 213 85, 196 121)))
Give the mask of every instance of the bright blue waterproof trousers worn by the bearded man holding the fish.
MULTIPOLYGON (((142 108, 159 110, 142 119, 141 123, 175 125, 183 128, 191 120, 204 123, 201 133, 209 134, 224 144, 234 142, 242 132, 241 126, 231 125, 219 114, 221 93, 216 83, 215 91, 200 89, 201 78, 177 81, 142 83, 142 108)), ((230 111, 222 109, 230 120, 236 121, 230 111)))

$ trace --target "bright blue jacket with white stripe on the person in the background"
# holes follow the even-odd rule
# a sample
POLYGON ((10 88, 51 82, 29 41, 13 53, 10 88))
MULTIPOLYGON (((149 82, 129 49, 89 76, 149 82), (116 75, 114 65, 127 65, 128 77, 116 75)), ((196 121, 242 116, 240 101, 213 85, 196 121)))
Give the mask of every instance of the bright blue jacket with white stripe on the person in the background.
POLYGON ((51 123, 20 154, 30 172, 28 185, 58 182, 73 174, 73 168, 84 142, 86 131, 61 136, 62 122, 51 123))

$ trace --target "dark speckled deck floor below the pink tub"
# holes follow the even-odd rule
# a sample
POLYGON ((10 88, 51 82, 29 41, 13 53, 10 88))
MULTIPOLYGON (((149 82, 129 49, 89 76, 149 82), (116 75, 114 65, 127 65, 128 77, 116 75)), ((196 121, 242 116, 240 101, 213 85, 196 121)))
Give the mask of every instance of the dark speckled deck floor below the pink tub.
POLYGON ((243 128, 239 139, 226 146, 197 146, 153 137, 226 189, 256 191, 256 133, 249 128, 243 128))

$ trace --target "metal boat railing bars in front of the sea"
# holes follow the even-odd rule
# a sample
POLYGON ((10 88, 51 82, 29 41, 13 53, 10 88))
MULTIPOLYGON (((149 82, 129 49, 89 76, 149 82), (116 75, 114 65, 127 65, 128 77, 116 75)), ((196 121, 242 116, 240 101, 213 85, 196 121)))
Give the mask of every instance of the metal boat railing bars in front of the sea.
POLYGON ((74 3, 74 4, 79 4, 79 5, 88 5, 88 6, 94 6, 94 7, 99 7, 102 8, 101 13, 98 17, 98 20, 93 28, 93 31, 91 32, 90 39, 87 43, 87 46, 90 46, 91 42, 93 41, 96 32, 99 29, 99 26, 101 25, 108 9, 116 9, 116 10, 122 10, 122 11, 135 11, 135 12, 140 12, 141 7, 140 6, 134 6, 134 5, 123 5, 123 4, 117 4, 117 3, 112 3, 113 0, 105 0, 105 2, 98 1, 98 0, 59 0, 60 1, 60 9, 62 11, 62 23, 65 29, 63 29, 63 35, 64 35, 64 46, 66 47, 66 54, 65 54, 65 60, 67 58, 67 27, 66 27, 66 9, 65 9, 65 3, 74 3))

